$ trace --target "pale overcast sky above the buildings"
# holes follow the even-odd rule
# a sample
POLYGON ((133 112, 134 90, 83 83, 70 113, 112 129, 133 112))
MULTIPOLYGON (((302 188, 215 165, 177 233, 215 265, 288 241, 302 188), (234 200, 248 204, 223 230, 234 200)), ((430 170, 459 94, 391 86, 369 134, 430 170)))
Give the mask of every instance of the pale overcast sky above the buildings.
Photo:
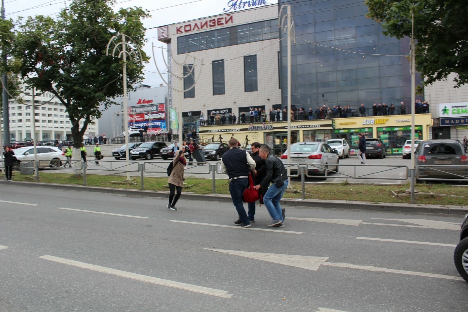
MULTIPOLYGON (((61 9, 68 7, 71 0, 4 0, 6 18, 16 20, 18 16, 51 15, 57 16, 61 9)), ((223 8, 227 8, 229 0, 171 0, 171 1, 148 1, 148 0, 117 0, 115 10, 120 7, 143 7, 150 12, 151 17, 143 20, 146 28, 164 26, 211 15, 222 14, 223 8)), ((278 3, 278 0, 267 0, 266 4, 278 3)), ((157 28, 146 30, 146 43, 143 50, 151 57, 145 66, 145 78, 143 83, 152 87, 158 87, 163 81, 154 64, 152 45, 166 47, 166 44, 158 41, 157 28)), ((163 70, 164 62, 160 49, 155 48, 156 62, 160 70, 163 70)))

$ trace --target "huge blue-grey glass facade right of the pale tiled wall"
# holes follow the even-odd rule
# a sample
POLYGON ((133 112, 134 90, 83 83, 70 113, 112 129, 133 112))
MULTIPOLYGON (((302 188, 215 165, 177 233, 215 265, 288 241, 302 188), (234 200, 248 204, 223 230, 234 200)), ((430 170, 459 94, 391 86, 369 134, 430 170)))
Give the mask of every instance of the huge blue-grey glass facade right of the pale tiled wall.
MULTIPOLYGON (((409 38, 384 36, 379 23, 366 18, 363 0, 278 2, 292 6, 297 37, 291 53, 294 110, 307 111, 323 104, 351 105, 356 109, 361 103, 371 108, 374 102, 385 102, 388 106, 392 102, 395 106, 411 102, 411 76, 405 57, 409 54, 409 38)), ((287 42, 283 40, 280 44, 285 105, 287 42)), ((416 85, 421 81, 417 74, 416 85)))

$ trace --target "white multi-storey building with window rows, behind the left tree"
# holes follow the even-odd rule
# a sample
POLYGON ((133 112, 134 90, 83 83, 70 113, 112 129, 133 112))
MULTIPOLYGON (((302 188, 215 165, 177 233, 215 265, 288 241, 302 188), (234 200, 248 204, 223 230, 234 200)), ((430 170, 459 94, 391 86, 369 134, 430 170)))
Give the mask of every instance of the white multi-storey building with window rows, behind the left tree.
MULTIPOLYGON (((22 141, 25 138, 34 138, 33 123, 36 122, 36 140, 71 140, 71 122, 68 118, 65 106, 53 98, 53 94, 46 92, 40 96, 36 95, 35 111, 32 111, 31 91, 25 92, 22 102, 9 101, 10 141, 22 141), (50 102, 49 102, 50 101, 50 102), (46 103, 46 104, 44 104, 46 103)), ((97 134, 97 119, 93 118, 94 124, 88 124, 86 133, 97 134)), ((3 124, 3 123, 2 123, 3 124)), ((80 122, 80 126, 83 122, 80 122)))

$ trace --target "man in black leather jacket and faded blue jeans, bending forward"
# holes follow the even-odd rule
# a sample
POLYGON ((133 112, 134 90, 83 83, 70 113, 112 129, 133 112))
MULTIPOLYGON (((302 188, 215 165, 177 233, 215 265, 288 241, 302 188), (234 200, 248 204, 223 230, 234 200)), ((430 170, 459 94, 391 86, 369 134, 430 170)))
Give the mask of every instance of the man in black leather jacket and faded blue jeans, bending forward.
POLYGON ((273 221, 268 226, 285 227, 284 218, 282 215, 281 205, 279 201, 288 186, 288 176, 285 166, 278 159, 270 154, 268 147, 262 146, 259 151, 260 157, 265 160, 266 175, 260 184, 254 186, 254 189, 260 189, 267 186, 271 181, 271 186, 263 196, 263 203, 273 221))

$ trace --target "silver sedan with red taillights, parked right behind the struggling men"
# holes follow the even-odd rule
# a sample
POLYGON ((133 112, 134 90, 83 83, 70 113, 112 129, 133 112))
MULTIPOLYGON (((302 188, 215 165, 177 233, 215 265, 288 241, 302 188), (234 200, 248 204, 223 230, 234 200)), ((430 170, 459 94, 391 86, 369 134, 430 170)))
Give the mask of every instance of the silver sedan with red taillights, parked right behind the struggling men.
MULTIPOLYGON (((281 161, 287 163, 287 150, 281 155, 281 161)), ((325 168, 338 171, 339 163, 338 151, 332 149, 325 142, 297 142, 291 144, 291 163, 297 163, 300 167, 307 168, 307 165, 327 165, 319 167, 308 167, 308 175, 325 175, 325 168)), ((297 169, 293 166, 291 174, 297 174, 297 169)), ((329 174, 329 172, 328 172, 329 174)))

